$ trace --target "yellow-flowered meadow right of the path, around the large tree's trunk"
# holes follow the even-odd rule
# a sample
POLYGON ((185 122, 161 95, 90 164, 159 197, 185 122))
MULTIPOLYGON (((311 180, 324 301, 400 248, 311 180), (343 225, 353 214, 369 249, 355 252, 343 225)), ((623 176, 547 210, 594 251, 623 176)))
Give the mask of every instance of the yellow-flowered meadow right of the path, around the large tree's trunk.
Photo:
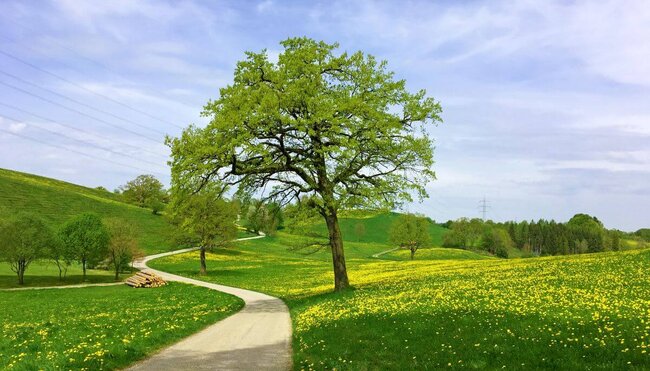
POLYGON ((355 289, 334 294, 328 252, 302 254, 295 239, 209 254, 204 277, 196 254, 151 265, 283 298, 296 369, 650 364, 650 250, 503 260, 430 249, 395 261, 368 258, 386 246, 346 243, 355 289))

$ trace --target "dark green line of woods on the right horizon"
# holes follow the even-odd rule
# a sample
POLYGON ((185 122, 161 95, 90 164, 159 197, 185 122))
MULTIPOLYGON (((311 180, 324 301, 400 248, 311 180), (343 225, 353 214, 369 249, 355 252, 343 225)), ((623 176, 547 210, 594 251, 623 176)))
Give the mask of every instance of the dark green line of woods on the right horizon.
POLYGON ((502 257, 507 257, 511 248, 537 256, 567 255, 618 251, 626 247, 624 240, 632 240, 638 247, 650 241, 650 229, 634 233, 607 229, 598 218, 587 214, 576 214, 566 223, 461 218, 441 225, 449 229, 444 247, 486 250, 502 257))

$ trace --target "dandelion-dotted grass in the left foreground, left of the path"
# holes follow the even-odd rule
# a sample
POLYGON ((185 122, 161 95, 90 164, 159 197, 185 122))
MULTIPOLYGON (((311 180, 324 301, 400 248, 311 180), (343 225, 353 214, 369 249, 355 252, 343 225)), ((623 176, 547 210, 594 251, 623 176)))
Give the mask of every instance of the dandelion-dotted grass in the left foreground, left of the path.
POLYGON ((242 306, 233 296, 178 283, 0 291, 0 369, 121 368, 242 306))

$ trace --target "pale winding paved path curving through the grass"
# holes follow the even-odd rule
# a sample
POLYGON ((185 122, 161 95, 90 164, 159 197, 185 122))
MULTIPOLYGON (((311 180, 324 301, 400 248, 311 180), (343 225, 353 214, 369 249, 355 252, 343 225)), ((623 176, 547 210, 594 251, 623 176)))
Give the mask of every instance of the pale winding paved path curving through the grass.
MULTIPOLYGON (((237 241, 262 238, 241 238, 237 241)), ((151 269, 147 262, 197 248, 146 256, 134 266, 167 281, 189 283, 235 295, 245 306, 232 316, 198 332, 128 370, 289 370, 291 317, 284 302, 256 291, 217 285, 151 269)))

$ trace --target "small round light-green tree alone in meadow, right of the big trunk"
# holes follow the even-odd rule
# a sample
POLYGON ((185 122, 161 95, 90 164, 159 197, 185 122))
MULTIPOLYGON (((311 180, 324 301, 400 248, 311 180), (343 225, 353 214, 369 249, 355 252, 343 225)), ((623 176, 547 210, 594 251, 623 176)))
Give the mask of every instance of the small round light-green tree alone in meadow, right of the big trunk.
POLYGON ((389 240, 400 248, 411 250, 411 260, 422 246, 431 244, 429 221, 413 214, 400 215, 390 228, 389 240))

